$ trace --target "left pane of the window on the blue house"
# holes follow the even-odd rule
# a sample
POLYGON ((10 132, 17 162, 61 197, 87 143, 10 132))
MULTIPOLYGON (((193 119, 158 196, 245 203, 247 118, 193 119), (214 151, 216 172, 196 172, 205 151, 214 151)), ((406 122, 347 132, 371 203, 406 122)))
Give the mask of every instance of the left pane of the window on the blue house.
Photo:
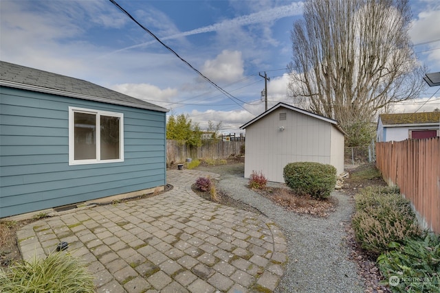
POLYGON ((96 159, 96 115, 75 115, 75 160, 96 159))

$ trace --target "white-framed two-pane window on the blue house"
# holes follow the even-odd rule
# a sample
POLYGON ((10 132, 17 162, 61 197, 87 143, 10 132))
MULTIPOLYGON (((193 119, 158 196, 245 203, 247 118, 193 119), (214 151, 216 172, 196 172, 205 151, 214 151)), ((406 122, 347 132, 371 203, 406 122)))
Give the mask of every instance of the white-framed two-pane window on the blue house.
POLYGON ((69 107, 69 165, 124 161, 124 115, 69 107))

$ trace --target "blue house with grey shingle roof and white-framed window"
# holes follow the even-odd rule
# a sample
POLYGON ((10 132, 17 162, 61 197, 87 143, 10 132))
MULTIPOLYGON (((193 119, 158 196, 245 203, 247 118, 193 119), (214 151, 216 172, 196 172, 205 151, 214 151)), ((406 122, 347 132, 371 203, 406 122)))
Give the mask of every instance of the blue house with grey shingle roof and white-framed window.
POLYGON ((0 218, 166 185, 165 108, 0 62, 0 218))

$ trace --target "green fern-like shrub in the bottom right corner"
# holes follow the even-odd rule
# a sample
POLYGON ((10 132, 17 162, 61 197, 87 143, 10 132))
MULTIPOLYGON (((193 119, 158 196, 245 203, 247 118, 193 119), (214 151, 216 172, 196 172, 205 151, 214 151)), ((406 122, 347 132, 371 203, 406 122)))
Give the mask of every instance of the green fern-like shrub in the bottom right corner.
POLYGON ((393 292, 439 292, 440 237, 428 234, 425 239, 407 239, 404 245, 392 242, 393 250, 377 258, 380 272, 388 283, 390 277, 399 282, 390 286, 393 292))

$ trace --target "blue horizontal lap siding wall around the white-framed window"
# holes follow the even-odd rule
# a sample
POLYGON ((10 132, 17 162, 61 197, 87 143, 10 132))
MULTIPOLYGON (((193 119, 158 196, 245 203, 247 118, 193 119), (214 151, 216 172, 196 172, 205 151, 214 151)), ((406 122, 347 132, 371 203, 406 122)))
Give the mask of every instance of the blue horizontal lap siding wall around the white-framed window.
POLYGON ((0 217, 165 185, 165 113, 1 88, 0 217), (68 107, 124 114, 124 162, 69 166, 68 107))

